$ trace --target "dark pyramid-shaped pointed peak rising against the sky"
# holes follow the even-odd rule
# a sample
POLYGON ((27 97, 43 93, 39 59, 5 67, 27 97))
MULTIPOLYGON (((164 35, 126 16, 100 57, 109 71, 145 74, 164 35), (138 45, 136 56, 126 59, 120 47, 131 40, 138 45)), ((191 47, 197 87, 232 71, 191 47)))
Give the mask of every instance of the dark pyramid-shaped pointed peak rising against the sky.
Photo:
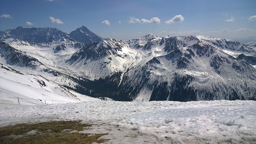
POLYGON ((86 28, 85 26, 82 26, 81 28, 77 28, 76 30, 70 32, 69 34, 74 40, 82 43, 86 42, 97 42, 100 41, 102 38, 90 30, 86 28))

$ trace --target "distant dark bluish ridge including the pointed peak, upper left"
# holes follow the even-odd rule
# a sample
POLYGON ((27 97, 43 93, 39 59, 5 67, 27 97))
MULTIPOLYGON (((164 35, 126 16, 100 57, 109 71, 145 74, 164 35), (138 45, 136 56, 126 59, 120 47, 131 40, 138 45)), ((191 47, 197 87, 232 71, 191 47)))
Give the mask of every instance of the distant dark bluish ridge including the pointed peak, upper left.
POLYGON ((0 41, 10 42, 16 39, 35 43, 61 42, 66 40, 85 43, 99 41, 102 38, 88 30, 85 26, 77 28, 70 32, 70 34, 62 32, 57 28, 22 28, 21 26, 16 29, 0 32, 0 41))

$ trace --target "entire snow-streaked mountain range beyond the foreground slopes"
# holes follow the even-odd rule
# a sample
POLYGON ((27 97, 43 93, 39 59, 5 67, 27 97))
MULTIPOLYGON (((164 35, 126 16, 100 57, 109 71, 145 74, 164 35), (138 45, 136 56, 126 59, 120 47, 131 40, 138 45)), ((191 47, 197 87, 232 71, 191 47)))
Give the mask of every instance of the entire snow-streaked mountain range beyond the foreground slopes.
MULTIPOLYGON (((147 34, 100 38, 85 26, 0 32, 0 63, 12 72, 92 97, 120 101, 256 100, 255 42, 147 34)), ((2 66, 2 67, 3 67, 2 66)))

